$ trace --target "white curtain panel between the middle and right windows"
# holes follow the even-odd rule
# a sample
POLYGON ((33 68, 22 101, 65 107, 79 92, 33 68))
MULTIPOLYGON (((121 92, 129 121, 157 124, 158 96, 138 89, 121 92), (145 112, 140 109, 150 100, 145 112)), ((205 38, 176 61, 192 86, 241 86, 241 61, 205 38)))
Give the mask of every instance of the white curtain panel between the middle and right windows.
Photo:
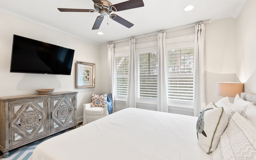
POLYGON ((168 112, 165 32, 158 33, 157 111, 168 112))

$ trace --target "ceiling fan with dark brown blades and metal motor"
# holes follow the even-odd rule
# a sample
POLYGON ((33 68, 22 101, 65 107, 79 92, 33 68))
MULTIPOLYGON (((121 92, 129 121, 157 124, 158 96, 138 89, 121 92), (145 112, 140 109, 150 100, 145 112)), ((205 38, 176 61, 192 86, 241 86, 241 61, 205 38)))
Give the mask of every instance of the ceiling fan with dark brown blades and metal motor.
POLYGON ((101 22, 103 21, 104 17, 106 15, 109 15, 110 19, 113 19, 114 21, 120 23, 121 25, 131 28, 133 26, 133 23, 123 19, 122 17, 119 17, 116 14, 110 14, 111 12, 117 12, 117 11, 123 11, 123 10, 129 10, 134 9, 137 7, 144 6, 144 3, 142 0, 130 0, 125 1, 118 4, 111 4, 107 0, 92 0, 94 2, 94 10, 92 9, 63 9, 58 8, 60 12, 99 12, 100 15, 96 18, 94 25, 92 29, 99 29, 101 22))

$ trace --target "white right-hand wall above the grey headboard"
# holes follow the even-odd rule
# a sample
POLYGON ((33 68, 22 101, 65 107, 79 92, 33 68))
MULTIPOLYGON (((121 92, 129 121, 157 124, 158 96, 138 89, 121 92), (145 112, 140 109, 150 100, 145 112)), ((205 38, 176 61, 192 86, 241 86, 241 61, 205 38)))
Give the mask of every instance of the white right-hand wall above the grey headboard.
POLYGON ((236 20, 236 74, 244 91, 256 94, 256 1, 247 0, 236 20))

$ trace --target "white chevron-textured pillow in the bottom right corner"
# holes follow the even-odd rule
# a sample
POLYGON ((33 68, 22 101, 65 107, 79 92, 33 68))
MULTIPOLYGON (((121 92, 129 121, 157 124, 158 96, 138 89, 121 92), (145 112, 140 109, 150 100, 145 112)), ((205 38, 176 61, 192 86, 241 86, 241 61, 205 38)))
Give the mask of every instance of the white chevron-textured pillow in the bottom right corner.
POLYGON ((213 159, 256 159, 256 130, 252 123, 239 113, 231 117, 221 135, 213 159))

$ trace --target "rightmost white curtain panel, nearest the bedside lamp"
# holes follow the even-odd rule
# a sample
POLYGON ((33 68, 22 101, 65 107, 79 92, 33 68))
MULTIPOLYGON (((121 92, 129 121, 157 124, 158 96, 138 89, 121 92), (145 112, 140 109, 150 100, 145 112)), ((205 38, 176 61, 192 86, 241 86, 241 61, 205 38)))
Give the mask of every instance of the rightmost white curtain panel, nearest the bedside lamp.
POLYGON ((195 66, 195 83, 194 83, 194 116, 205 107, 205 87, 204 87, 204 42, 205 26, 197 24, 195 27, 195 48, 194 48, 194 66, 195 66))

